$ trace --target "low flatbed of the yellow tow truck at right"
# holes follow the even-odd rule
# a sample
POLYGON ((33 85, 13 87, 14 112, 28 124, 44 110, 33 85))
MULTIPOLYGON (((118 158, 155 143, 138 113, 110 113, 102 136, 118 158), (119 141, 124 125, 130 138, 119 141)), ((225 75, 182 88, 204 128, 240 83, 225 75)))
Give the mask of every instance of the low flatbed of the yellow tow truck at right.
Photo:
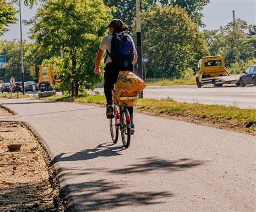
POLYGON ((201 85, 213 84, 214 87, 221 87, 223 84, 235 84, 240 86, 239 77, 240 75, 207 77, 201 79, 201 85))

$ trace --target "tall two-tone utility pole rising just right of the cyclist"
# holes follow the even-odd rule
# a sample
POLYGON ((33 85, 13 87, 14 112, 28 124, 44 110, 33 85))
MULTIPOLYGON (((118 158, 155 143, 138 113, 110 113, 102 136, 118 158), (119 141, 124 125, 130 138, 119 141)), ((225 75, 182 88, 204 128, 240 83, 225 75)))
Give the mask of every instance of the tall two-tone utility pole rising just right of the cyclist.
MULTIPOLYGON (((136 32, 137 32, 137 53, 138 53, 138 75, 140 79, 143 79, 142 70, 142 30, 140 28, 140 8, 139 0, 136 0, 136 32)), ((140 93, 140 97, 143 98, 143 91, 140 93)))

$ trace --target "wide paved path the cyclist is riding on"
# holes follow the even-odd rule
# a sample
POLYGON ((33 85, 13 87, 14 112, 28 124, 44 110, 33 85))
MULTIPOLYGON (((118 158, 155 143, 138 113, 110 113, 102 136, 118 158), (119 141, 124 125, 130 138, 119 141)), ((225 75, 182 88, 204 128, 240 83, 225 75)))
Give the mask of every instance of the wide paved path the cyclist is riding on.
MULTIPOLYGON (((44 139, 77 210, 254 211, 255 137, 136 114, 124 150, 104 108, 3 100, 44 139)), ((6 120, 6 118, 0 118, 6 120)))

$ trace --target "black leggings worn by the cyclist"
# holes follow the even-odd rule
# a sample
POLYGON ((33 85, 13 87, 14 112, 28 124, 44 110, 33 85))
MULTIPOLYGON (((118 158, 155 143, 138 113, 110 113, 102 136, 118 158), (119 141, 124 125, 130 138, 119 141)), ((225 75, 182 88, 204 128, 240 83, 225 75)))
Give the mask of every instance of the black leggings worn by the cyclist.
MULTIPOLYGON (((113 104, 113 94, 112 91, 114 89, 114 84, 117 82, 117 77, 120 70, 128 70, 129 72, 133 72, 133 65, 128 65, 127 67, 120 67, 115 65, 113 62, 109 62, 105 66, 104 73, 104 94, 106 96, 107 105, 113 104)), ((133 115, 133 107, 127 107, 129 110, 131 121, 133 115)))

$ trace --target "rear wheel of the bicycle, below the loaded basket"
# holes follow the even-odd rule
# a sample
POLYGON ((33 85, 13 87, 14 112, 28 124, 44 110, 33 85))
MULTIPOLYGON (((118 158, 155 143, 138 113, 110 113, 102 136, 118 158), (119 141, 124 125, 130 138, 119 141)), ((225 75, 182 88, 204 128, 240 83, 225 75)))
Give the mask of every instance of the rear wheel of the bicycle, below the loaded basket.
POLYGON ((131 118, 127 108, 122 109, 120 130, 123 145, 127 148, 131 142, 131 118))

